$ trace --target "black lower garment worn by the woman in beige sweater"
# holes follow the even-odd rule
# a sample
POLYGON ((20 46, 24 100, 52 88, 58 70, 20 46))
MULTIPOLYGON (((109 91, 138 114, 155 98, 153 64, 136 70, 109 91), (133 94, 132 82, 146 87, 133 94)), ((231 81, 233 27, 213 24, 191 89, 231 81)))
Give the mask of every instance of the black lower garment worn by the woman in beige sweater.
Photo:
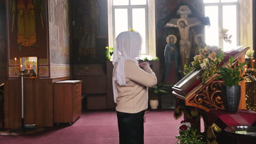
POLYGON ((144 113, 124 113, 117 111, 119 144, 144 143, 144 113))

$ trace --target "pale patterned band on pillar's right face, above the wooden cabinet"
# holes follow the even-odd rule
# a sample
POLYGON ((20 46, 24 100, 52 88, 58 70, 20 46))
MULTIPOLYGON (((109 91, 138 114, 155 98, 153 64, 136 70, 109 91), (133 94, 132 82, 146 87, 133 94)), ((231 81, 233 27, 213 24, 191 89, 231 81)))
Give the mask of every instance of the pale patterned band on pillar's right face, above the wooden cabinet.
POLYGON ((51 78, 70 76, 71 68, 69 64, 51 64, 51 78))

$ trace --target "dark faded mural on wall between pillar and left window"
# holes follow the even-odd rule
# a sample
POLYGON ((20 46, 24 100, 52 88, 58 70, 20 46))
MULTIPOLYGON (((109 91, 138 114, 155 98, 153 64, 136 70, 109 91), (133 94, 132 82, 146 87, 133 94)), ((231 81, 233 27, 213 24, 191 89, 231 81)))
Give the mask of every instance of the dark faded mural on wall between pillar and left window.
POLYGON ((71 8, 73 64, 105 64, 107 0, 72 1, 71 8))

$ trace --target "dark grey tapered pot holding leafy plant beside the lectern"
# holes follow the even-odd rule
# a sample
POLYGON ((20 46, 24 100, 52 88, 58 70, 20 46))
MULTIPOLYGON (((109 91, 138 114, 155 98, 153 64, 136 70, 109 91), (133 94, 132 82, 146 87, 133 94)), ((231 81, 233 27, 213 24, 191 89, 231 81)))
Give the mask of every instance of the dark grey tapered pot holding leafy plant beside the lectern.
POLYGON ((241 97, 240 86, 222 86, 222 99, 228 112, 237 112, 241 97))

